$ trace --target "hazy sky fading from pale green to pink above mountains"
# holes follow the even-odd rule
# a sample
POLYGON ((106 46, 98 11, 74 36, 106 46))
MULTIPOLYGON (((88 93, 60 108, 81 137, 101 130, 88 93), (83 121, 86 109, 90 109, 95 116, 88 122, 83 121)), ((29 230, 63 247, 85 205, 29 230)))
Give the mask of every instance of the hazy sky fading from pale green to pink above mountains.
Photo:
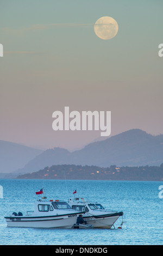
POLYGON ((0 139, 32 147, 83 147, 100 131, 54 131, 52 113, 111 111, 111 136, 163 133, 162 0, 1 0, 0 139), (99 39, 94 23, 118 33, 99 39))

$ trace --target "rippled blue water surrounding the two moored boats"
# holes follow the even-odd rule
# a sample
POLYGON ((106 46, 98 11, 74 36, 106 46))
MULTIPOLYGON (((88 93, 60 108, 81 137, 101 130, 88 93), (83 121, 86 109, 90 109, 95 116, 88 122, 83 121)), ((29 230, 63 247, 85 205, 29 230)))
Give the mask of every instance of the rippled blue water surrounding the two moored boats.
POLYGON ((0 180, 0 245, 163 245, 162 182, 89 180, 0 180), (123 211, 122 229, 9 228, 4 220, 13 211, 34 210, 35 192, 45 189, 48 199, 77 196, 101 202, 107 209, 123 211), (67 189, 66 189, 67 187, 67 189))

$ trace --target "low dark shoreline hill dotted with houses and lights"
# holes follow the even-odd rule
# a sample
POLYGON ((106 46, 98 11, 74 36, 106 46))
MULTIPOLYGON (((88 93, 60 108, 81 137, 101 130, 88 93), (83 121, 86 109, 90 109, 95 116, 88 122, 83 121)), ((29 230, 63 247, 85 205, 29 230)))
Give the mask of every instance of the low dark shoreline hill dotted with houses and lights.
POLYGON ((158 166, 98 167, 63 164, 46 167, 38 172, 19 175, 18 179, 66 179, 67 180, 163 180, 163 163, 158 166))

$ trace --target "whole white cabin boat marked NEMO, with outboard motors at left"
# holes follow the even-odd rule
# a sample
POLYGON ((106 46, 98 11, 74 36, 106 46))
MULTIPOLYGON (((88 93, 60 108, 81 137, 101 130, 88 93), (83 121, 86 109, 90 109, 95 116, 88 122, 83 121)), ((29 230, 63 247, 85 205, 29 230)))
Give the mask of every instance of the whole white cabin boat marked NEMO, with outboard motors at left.
POLYGON ((71 208, 67 202, 60 200, 37 200, 34 211, 27 211, 26 215, 22 212, 13 212, 5 217, 8 227, 27 227, 27 228, 72 228, 76 223, 79 214, 71 208))

